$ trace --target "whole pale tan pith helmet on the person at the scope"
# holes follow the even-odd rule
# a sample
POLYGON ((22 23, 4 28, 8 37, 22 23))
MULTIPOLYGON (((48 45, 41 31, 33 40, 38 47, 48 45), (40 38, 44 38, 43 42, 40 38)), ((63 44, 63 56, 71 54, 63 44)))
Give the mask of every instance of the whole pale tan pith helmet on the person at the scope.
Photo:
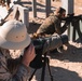
POLYGON ((26 26, 12 19, 0 27, 0 46, 9 50, 20 50, 30 44, 26 26))

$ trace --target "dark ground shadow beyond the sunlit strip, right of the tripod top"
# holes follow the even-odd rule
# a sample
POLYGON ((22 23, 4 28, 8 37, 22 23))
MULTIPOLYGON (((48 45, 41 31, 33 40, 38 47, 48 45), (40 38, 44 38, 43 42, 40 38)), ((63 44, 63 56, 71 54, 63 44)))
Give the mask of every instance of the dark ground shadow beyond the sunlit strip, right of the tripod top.
POLYGON ((68 50, 63 53, 53 53, 49 55, 51 58, 59 60, 82 63, 82 48, 76 48, 71 44, 69 44, 68 50))

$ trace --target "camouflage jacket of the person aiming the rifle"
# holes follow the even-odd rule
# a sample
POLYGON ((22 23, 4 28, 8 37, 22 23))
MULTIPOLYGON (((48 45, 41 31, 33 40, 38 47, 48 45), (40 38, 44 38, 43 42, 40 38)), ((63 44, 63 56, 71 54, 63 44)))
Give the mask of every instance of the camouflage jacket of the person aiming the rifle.
POLYGON ((39 27, 37 30, 37 33, 46 33, 46 35, 53 35, 54 32, 62 35, 66 29, 67 25, 65 24, 62 27, 62 21, 56 15, 50 15, 43 24, 39 27))

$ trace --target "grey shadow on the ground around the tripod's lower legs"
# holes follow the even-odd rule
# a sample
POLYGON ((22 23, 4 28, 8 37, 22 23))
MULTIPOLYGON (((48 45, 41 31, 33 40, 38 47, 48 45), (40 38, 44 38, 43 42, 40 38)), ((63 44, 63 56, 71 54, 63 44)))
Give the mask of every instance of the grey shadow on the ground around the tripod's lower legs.
MULTIPOLYGON (((33 77, 36 78, 37 81, 41 81, 41 72, 42 69, 38 69, 36 71, 33 77)), ((53 76, 53 81, 82 81, 82 78, 80 78, 77 72, 70 71, 62 67, 51 66, 51 72, 53 76)), ((33 81, 33 78, 31 79, 31 81, 33 81)), ((45 69, 44 81, 51 81, 47 67, 45 69)))

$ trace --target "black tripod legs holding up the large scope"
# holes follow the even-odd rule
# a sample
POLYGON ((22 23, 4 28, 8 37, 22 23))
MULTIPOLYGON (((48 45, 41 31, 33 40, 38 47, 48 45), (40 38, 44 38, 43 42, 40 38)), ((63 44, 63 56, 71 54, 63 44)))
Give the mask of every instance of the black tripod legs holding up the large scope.
MULTIPOLYGON (((41 72, 41 81, 44 81, 44 77, 45 77, 45 67, 47 65, 47 69, 49 69, 49 73, 50 73, 50 78, 51 78, 51 81, 53 81, 53 76, 51 73, 51 69, 50 69, 50 59, 49 57, 46 57, 46 53, 44 54, 44 57, 42 57, 43 59, 43 66, 42 66, 42 72, 41 72)), ((36 73, 38 69, 35 69, 35 71, 32 72, 31 77, 29 78, 28 81, 31 81, 33 75, 36 73)))

